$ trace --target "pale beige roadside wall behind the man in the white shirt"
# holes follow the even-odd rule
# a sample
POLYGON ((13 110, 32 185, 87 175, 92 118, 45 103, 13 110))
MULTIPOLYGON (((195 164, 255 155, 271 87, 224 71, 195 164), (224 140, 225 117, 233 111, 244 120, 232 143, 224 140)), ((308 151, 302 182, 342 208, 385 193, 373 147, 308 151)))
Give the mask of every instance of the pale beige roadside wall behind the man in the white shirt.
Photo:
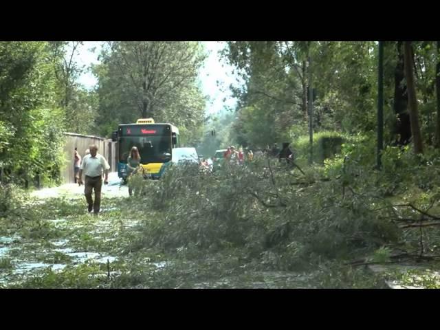
POLYGON ((117 158, 116 158, 116 146, 117 142, 112 142, 111 139, 104 139, 102 137, 91 135, 80 135, 76 133, 64 133, 65 134, 65 166, 61 168, 61 179, 63 183, 69 184, 74 182, 74 151, 78 148, 78 153, 81 157, 84 157, 86 149, 91 144, 98 146, 98 153, 103 155, 110 165, 110 171, 118 170, 117 158))

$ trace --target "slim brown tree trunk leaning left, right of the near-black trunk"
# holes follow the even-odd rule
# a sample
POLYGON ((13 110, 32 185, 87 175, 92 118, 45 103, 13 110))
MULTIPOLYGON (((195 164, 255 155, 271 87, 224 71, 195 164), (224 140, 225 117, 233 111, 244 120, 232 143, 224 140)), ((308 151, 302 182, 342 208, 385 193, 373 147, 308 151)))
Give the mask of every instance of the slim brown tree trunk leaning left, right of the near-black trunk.
POLYGON ((421 132, 419 126, 419 113, 417 111, 417 96, 415 93, 414 77, 412 76, 413 66, 411 56, 411 42, 404 42, 404 67, 406 78, 406 89, 408 93, 408 104, 410 113, 410 124, 412 141, 414 142, 414 153, 417 155, 423 153, 423 142, 421 140, 421 132))

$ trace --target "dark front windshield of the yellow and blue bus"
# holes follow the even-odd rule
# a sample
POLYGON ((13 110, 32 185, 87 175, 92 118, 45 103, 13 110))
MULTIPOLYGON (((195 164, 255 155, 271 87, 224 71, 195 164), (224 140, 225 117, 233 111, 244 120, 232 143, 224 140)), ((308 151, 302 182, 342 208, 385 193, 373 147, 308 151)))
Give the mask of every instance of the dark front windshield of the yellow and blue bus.
POLYGON ((170 135, 162 136, 124 136, 120 140, 119 159, 126 164, 131 148, 137 146, 141 164, 162 163, 164 153, 171 154, 172 141, 170 135))

